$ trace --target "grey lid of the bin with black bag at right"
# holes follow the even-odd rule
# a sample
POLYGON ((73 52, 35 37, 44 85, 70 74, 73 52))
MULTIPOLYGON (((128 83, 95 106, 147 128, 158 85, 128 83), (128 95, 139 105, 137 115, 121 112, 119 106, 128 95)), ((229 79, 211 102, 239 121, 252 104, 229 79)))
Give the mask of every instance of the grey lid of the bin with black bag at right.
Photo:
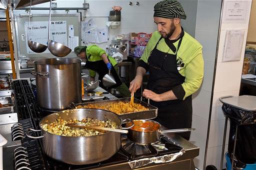
POLYGON ((220 97, 222 103, 229 104, 233 107, 240 108, 247 111, 256 111, 256 96, 253 95, 240 95, 220 97))

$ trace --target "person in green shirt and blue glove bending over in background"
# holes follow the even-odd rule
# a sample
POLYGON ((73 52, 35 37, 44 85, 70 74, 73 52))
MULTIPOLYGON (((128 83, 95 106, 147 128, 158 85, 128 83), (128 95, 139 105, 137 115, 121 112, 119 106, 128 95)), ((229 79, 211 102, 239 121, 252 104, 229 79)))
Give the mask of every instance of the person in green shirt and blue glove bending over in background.
POLYGON ((86 60, 85 67, 89 69, 90 80, 95 80, 96 72, 98 73, 98 79, 100 80, 99 86, 106 89, 102 84, 102 79, 105 74, 108 73, 108 70, 111 70, 116 84, 112 85, 110 88, 116 88, 122 96, 130 96, 128 87, 121 82, 117 74, 117 62, 115 59, 106 54, 105 50, 98 47, 97 45, 90 46, 76 46, 74 48, 74 53, 82 59, 86 60))

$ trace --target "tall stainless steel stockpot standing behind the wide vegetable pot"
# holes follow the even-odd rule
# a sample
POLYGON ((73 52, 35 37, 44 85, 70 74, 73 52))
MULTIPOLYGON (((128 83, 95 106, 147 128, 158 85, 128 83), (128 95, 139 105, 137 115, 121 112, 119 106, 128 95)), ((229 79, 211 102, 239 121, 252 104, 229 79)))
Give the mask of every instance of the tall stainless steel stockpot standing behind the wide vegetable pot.
POLYGON ((81 60, 49 58, 35 60, 37 102, 47 110, 68 108, 81 102, 81 60))

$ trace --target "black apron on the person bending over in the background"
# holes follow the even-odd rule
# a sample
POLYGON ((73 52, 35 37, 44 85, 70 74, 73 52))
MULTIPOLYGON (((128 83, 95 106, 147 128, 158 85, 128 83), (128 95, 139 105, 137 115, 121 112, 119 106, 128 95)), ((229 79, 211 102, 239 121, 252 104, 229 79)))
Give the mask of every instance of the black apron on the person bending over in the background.
MULTIPOLYGON (((89 68, 93 71, 96 71, 98 73, 98 79, 100 80, 99 86, 103 89, 106 89, 106 87, 102 83, 103 76, 108 73, 108 68, 107 68, 106 64, 104 63, 104 61, 102 59, 98 60, 98 61, 89 61, 89 57, 90 57, 90 55, 89 56, 86 55, 87 59, 86 59, 85 67, 89 68)), ((108 57, 108 55, 107 55, 107 57, 108 57)), ((109 60, 109 58, 108 58, 108 60, 109 60)), ((114 84, 108 88, 110 89, 110 88, 120 86, 122 84, 122 82, 121 82, 117 72, 115 71, 113 65, 112 65, 110 72, 113 75, 116 84, 114 84)))

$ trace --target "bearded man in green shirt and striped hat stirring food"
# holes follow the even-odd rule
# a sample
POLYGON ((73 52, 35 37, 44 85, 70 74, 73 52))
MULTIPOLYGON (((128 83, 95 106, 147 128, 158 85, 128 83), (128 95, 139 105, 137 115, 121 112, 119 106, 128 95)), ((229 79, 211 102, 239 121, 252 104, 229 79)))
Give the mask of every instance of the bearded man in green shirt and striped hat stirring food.
MULTIPOLYGON (((158 107, 155 121, 173 128, 190 128, 192 97, 203 77, 202 46, 183 30, 180 19, 186 14, 177 0, 162 0, 154 5, 154 22, 157 25, 148 41, 130 82, 134 93, 149 71, 147 89, 142 95, 158 107)), ((179 133, 189 139, 190 132, 179 133)))

